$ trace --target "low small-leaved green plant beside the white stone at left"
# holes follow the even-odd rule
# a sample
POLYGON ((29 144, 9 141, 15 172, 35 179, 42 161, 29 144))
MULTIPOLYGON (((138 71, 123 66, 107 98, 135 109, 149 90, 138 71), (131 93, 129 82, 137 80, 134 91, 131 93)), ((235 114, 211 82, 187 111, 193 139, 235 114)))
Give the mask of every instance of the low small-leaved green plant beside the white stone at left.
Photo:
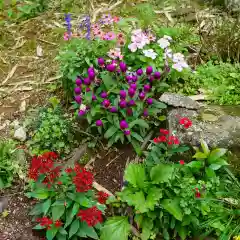
POLYGON ((50 150, 69 153, 71 143, 73 143, 71 122, 63 116, 60 106, 42 109, 32 139, 28 141, 31 153, 38 155, 50 150))

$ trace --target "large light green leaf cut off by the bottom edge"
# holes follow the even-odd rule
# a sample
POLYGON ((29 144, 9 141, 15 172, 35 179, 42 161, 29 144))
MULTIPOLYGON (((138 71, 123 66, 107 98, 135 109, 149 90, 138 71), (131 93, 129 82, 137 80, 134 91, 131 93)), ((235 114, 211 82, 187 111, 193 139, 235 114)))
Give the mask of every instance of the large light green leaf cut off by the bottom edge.
POLYGON ((101 240, 128 240, 131 225, 128 217, 111 217, 101 230, 101 240))

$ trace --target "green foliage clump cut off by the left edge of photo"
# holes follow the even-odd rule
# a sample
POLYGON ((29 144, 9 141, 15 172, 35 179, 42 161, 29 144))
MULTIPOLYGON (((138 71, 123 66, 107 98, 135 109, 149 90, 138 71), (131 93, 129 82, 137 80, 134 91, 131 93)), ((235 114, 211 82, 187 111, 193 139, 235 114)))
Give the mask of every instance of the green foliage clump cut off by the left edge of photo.
POLYGON ((0 189, 10 187, 14 177, 25 179, 25 155, 11 140, 0 141, 0 189))

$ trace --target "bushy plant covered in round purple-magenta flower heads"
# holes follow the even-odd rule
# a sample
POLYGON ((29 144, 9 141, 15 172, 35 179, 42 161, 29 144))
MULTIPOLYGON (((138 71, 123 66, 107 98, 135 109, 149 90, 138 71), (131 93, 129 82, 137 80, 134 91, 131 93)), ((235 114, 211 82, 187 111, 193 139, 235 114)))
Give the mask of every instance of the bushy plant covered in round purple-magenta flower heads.
POLYGON ((149 123, 166 105, 154 97, 155 83, 161 74, 151 66, 129 72, 119 60, 98 59, 98 68, 76 79, 75 108, 79 117, 86 117, 90 130, 97 130, 108 139, 108 145, 125 137, 138 150, 149 123))

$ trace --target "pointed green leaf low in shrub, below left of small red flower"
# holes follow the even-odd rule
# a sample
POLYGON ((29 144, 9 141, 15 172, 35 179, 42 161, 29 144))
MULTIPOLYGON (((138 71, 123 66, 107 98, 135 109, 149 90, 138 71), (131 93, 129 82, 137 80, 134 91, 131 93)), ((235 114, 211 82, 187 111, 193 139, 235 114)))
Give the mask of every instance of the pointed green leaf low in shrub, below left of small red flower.
POLYGON ((161 205, 166 211, 172 214, 177 220, 182 221, 183 213, 179 203, 180 201, 177 198, 161 201, 161 205))

